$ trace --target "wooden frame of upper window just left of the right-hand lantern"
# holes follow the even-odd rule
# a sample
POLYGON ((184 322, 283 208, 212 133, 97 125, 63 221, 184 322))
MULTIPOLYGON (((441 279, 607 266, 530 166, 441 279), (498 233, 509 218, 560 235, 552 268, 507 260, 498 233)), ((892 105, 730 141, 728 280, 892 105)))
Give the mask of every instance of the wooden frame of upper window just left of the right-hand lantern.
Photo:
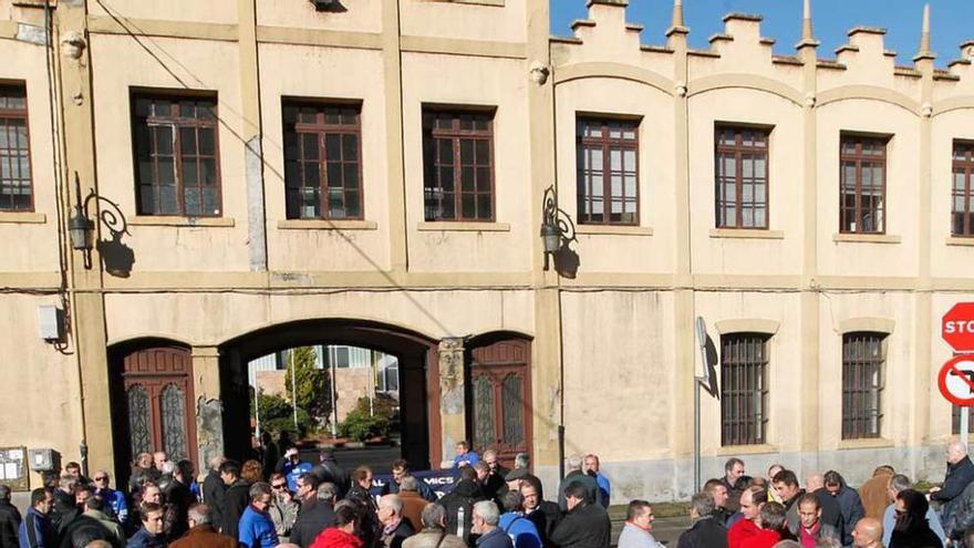
MULTIPOLYGON (((433 106, 433 105, 424 105, 423 114, 422 114, 422 123, 423 123, 423 217, 427 223, 495 223, 497 219, 497 188, 496 188, 496 153, 494 145, 494 117, 495 111, 494 108, 478 108, 478 107, 469 107, 469 106, 433 106), (436 127, 436 116, 448 115, 453 117, 452 127, 449 130, 436 127), (460 128, 460 122, 463 116, 465 115, 474 115, 474 116, 486 116, 487 117, 487 128, 486 130, 463 130, 460 128), (433 117, 433 123, 428 123, 427 120, 433 117), (453 146, 453 164, 454 166, 454 175, 453 175, 453 193, 444 193, 442 190, 443 185, 439 182, 439 167, 445 166, 447 164, 442 164, 439 159, 439 147, 437 144, 438 139, 450 139, 453 146), (487 154, 489 155, 489 165, 488 172, 490 176, 490 216, 489 217, 478 217, 477 211, 479 210, 479 205, 477 198, 481 196, 484 193, 477 190, 476 182, 474 184, 474 190, 463 190, 463 162, 462 162, 462 146, 464 139, 472 139, 475 142, 474 144, 474 154, 476 156, 476 141, 486 141, 487 142, 487 154), (433 147, 431 149, 431 147, 433 147), (432 162, 432 163, 431 163, 432 162), (453 217, 444 217, 441 215, 428 215, 431 207, 435 209, 442 209, 443 198, 431 198, 428 196, 429 193, 435 193, 439 190, 441 194, 453 194, 454 195, 454 215, 453 217), (465 195, 474 195, 474 217, 465 217, 463 214, 463 198, 465 195), (431 206, 431 200, 436 200, 435 206, 431 206)), ((475 161, 476 162, 476 161, 475 161)), ((476 169, 479 164, 473 164, 476 177, 476 169)))

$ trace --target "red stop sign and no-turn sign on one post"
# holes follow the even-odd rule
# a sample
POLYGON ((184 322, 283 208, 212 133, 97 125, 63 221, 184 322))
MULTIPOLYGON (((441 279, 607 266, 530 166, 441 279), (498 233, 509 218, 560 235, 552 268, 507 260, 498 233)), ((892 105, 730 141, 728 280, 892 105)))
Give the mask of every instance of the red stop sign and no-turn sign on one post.
POLYGON ((956 354, 941 368, 941 394, 961 407, 961 443, 967 448, 971 432, 968 407, 974 405, 974 302, 954 304, 941 320, 941 338, 956 354))

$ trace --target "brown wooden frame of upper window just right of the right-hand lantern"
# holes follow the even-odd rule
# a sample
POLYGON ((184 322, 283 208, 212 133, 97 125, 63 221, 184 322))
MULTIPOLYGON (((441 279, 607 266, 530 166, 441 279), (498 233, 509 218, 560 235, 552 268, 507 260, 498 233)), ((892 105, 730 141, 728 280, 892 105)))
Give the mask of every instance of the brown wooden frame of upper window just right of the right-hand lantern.
MULTIPOLYGON (((639 226, 640 224, 640 124, 642 120, 639 117, 623 117, 623 116, 601 116, 598 114, 578 114, 576 116, 576 154, 577 154, 577 169, 576 169, 576 182, 578 189, 578 223, 579 225, 612 225, 612 226, 639 226), (591 137, 586 136, 583 127, 586 124, 598 124, 601 126, 601 137, 591 137), (613 138, 610 136, 610 126, 612 124, 628 124, 626 128, 631 130, 634 134, 633 138, 618 137, 613 138), (593 220, 591 216, 595 214, 587 214, 586 206, 589 206, 589 211, 592 210, 592 193, 590 193, 590 183, 591 179, 589 175, 586 173, 584 166, 582 164, 581 157, 587 152, 587 149, 602 149, 602 220, 593 220), (612 219, 612 203, 615 199, 615 196, 612 194, 612 152, 620 151, 623 154, 623 166, 624 166, 624 154, 628 151, 633 151, 635 155, 635 194, 631 197, 635 203, 635 213, 633 213, 632 220, 613 220, 612 219)), ((625 169, 621 172, 623 175, 622 179, 622 194, 619 198, 623 203, 623 208, 625 200, 630 198, 630 196, 625 195, 625 169)), ((622 215, 625 213, 623 211, 622 215)))

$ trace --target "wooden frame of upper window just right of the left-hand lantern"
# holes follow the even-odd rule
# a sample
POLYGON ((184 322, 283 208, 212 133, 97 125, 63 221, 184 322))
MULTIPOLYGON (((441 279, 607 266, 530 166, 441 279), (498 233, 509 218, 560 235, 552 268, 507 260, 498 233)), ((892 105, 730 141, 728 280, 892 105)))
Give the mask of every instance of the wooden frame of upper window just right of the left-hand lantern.
MULTIPOLYGON (((129 101, 132 105, 132 155, 133 155, 133 164, 135 168, 135 194, 136 194, 136 211, 139 216, 169 216, 175 215, 178 217, 191 217, 191 218, 219 218, 224 216, 224 196, 222 196, 222 174, 220 166, 220 120, 219 120, 219 101, 216 93, 205 93, 205 92, 186 92, 185 90, 178 91, 169 91, 169 90, 132 90, 129 93, 129 101), (136 111, 136 102, 139 100, 163 100, 172 102, 172 111, 168 116, 156 116, 156 115, 147 115, 145 117, 141 117, 136 111), (179 103, 180 101, 211 101, 213 102, 213 115, 209 120, 203 117, 184 117, 179 115, 179 103), (138 130, 142 125, 153 126, 153 125, 168 125, 173 127, 173 162, 175 164, 175 186, 176 186, 176 198, 178 205, 178 211, 175 214, 170 213, 157 213, 157 211, 146 211, 143 209, 142 204, 142 187, 152 186, 158 187, 158 153, 154 148, 154 145, 149 145, 149 158, 153 161, 154 170, 156 172, 156 176, 153 179, 152 184, 144 184, 139 177, 138 173, 138 130), (213 152, 213 161, 214 161, 214 177, 216 179, 215 188, 216 188, 216 205, 218 208, 218 213, 199 213, 199 214, 187 214, 186 213, 186 204, 185 204, 185 193, 184 193, 184 174, 183 174, 183 147, 182 147, 182 130, 187 127, 194 128, 210 128, 213 130, 214 135, 214 152, 213 152)), ((197 161, 209 158, 210 156, 203 156, 199 154, 199 138, 197 133, 197 155, 195 158, 197 161)), ((204 188, 203 183, 197 179, 196 186, 200 189, 204 188)), ((203 197, 200 194, 200 207, 203 206, 203 197)), ((155 209, 159 208, 158 197, 156 197, 155 209)))

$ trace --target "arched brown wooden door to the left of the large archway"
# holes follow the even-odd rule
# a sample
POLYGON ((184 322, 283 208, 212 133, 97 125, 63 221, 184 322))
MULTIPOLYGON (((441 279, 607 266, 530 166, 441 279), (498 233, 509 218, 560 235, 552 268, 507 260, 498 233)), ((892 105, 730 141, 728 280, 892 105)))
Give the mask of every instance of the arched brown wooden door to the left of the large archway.
POLYGON ((123 364, 132 456, 165 451, 170 461, 188 458, 196 464, 196 415, 189 351, 178 347, 145 349, 126 355, 123 364))

